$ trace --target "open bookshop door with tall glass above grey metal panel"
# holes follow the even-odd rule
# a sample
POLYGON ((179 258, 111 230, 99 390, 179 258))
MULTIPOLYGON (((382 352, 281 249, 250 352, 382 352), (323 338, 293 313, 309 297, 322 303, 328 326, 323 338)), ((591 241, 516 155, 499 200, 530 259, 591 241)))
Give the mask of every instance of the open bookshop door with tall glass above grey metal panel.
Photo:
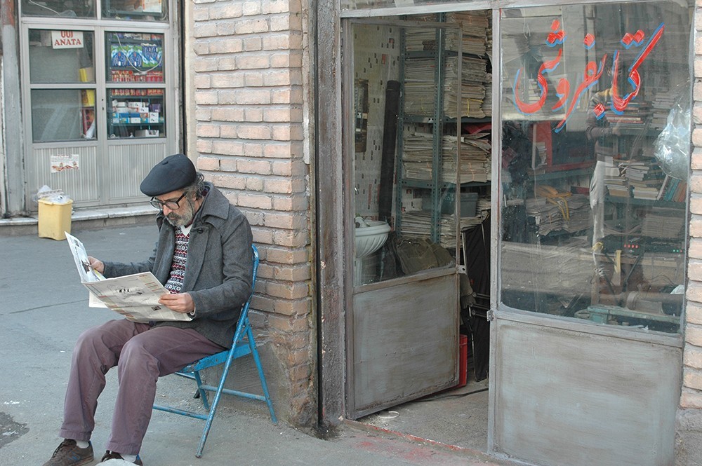
POLYGON ((458 380, 461 41, 444 47, 447 30, 460 32, 433 16, 420 27, 350 26, 347 416, 356 419, 458 380))

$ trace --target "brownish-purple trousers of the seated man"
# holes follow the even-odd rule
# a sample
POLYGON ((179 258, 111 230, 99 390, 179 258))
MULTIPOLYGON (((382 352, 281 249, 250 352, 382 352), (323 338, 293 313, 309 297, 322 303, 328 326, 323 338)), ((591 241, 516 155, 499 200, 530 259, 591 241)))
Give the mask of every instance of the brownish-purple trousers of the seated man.
POLYGON ((158 378, 223 349, 192 329, 150 327, 128 320, 111 320, 84 331, 73 351, 60 437, 90 439, 105 374, 117 366, 119 388, 107 450, 139 453, 158 378))

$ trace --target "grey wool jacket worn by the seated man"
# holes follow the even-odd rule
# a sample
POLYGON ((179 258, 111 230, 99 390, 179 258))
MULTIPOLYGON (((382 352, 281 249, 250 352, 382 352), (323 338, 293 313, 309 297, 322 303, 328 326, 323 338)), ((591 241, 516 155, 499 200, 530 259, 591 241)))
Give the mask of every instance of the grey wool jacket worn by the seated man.
MULTIPOLYGON (((181 293, 195 303, 190 322, 156 322, 155 327, 195 329, 208 340, 230 348, 241 306, 251 295, 253 253, 251 226, 244 214, 223 193, 206 183, 209 192, 195 215, 187 247, 181 293)), ((151 271, 161 283, 171 273, 176 231, 163 212, 157 215, 159 240, 144 262, 107 262, 105 277, 151 271)))

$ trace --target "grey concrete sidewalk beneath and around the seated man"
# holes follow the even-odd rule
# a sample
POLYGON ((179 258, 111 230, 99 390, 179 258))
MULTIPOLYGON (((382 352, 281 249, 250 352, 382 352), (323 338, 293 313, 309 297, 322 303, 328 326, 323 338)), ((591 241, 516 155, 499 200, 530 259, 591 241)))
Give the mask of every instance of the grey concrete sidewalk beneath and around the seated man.
MULTIPOLYGON (((88 254, 138 261, 152 251, 157 231, 154 225, 74 233, 88 254)), ((0 235, 0 257, 0 465, 42 465, 60 443, 57 433, 74 342, 87 327, 116 315, 88 308, 67 242, 0 235)), ((116 371, 110 371, 93 433, 98 459, 110 430, 116 386, 116 371)), ((157 401, 197 406, 193 393, 191 381, 170 376, 159 381, 157 401)), ((194 451, 202 425, 199 420, 154 412, 141 451, 145 465, 512 464, 475 451, 350 425, 340 428, 335 439, 317 439, 284 420, 273 425, 263 406, 239 409, 226 404, 218 411, 203 458, 197 459, 194 451)))

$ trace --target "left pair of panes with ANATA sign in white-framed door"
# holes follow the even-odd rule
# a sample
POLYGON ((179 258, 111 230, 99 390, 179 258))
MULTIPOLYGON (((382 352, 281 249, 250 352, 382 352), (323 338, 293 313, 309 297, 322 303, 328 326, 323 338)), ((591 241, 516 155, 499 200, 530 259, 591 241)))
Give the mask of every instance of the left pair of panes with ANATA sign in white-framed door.
POLYGON ((29 81, 34 142, 95 139, 93 32, 30 29, 29 81))

